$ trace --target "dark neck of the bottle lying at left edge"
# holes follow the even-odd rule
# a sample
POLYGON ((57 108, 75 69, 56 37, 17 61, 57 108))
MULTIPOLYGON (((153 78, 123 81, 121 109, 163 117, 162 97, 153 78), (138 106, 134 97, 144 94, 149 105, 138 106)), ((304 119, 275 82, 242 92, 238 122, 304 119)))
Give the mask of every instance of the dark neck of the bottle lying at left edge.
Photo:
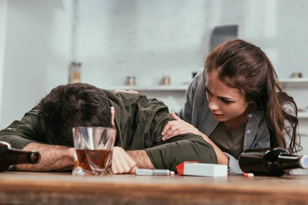
POLYGON ((23 151, 17 149, 7 149, 0 156, 1 161, 7 165, 18 165, 21 163, 38 163, 41 156, 35 151, 23 151))

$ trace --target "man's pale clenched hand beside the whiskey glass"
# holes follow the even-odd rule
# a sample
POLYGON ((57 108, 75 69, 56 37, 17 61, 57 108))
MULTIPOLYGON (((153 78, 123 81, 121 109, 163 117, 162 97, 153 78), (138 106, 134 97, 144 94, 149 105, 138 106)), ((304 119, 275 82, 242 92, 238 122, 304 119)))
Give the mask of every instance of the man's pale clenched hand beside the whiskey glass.
POLYGON ((136 162, 121 147, 114 147, 112 151, 111 170, 113 174, 134 174, 136 162))

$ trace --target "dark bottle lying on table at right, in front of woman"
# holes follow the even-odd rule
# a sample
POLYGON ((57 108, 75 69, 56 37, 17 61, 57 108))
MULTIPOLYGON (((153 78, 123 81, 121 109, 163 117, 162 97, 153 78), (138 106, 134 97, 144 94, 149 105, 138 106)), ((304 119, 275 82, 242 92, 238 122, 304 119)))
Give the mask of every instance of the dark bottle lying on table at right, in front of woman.
POLYGON ((248 149, 239 156, 239 165, 244 173, 282 176, 293 169, 308 169, 308 156, 291 155, 282 148, 248 149))

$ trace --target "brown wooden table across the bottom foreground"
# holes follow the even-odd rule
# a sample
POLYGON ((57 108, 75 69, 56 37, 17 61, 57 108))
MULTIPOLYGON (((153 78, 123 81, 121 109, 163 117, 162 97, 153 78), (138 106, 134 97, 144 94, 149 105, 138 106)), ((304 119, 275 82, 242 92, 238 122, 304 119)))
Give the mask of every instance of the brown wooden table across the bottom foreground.
POLYGON ((0 204, 308 204, 308 175, 82 177, 4 172, 0 204))

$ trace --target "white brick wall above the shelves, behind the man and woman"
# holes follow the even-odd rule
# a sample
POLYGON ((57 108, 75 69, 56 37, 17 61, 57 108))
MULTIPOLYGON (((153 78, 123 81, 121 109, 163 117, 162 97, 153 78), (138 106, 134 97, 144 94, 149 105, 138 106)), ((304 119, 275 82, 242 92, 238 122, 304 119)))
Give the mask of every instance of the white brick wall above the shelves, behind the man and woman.
POLYGON ((134 75, 138 84, 155 85, 168 72, 177 73, 172 83, 188 83, 209 52, 211 31, 233 24, 240 38, 269 55, 280 77, 291 69, 308 76, 307 10, 305 0, 81 0, 83 80, 122 85, 126 75, 134 75))

